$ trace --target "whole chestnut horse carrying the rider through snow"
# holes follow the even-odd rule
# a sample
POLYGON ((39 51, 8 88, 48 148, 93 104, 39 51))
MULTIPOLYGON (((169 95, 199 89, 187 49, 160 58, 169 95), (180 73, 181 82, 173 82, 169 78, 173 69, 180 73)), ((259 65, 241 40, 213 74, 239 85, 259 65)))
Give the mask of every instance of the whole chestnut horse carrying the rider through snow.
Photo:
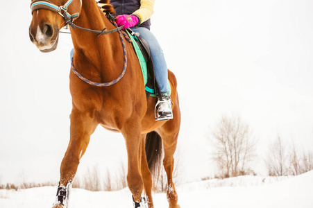
MULTIPOLYGON (((74 20, 77 26, 92 30, 102 31, 106 28, 106 31, 111 31, 116 28, 94 0, 33 0, 31 6, 33 19, 29 34, 31 41, 42 52, 55 50, 60 29, 74 20), (71 21, 66 23, 66 19, 71 21)), ((108 10, 113 10, 112 6, 107 6, 108 10)), ((157 98, 149 97, 146 100, 144 78, 133 46, 127 41, 122 46, 124 37, 117 31, 97 37, 95 33, 80 28, 70 30, 75 51, 72 64, 83 77, 96 83, 107 83, 120 75, 124 76, 114 85, 98 87, 83 82, 73 71, 70 72, 69 88, 73 103, 70 141, 60 166, 60 183, 53 207, 67 207, 69 188, 79 160, 85 153, 90 136, 100 124, 124 136, 128 153, 127 182, 133 194, 134 207, 144 207, 141 202, 143 190, 148 207, 153 207, 151 167, 158 166, 161 158, 160 155, 153 156, 153 153, 161 153, 163 146, 167 200, 169 207, 178 208, 178 195, 172 177, 180 128, 174 73, 168 71, 174 119, 155 121, 157 98), (125 49, 127 67, 123 62, 125 49), (125 67, 126 73, 123 70, 125 67), (157 146, 161 149, 157 149, 157 146)))

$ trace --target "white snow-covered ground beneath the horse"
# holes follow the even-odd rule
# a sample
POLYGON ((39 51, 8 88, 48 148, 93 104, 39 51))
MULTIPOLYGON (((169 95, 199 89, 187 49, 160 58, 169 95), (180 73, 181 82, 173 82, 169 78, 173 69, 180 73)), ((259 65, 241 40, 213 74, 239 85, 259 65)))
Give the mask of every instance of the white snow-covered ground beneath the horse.
MULTIPOLYGON (((296 177, 243 176, 207 180, 177 187, 182 208, 312 208, 313 171, 296 177)), ((51 207, 56 187, 19 191, 0 190, 0 207, 51 207)), ((155 208, 168 207, 166 194, 153 194, 155 208)), ((85 191, 72 189, 70 207, 132 208, 130 191, 85 191)))

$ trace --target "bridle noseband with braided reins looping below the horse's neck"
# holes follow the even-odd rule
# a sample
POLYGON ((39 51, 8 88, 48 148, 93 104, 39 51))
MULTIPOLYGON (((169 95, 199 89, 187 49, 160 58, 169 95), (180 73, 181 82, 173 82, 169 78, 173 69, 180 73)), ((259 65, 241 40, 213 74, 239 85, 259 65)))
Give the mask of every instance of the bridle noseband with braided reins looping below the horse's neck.
POLYGON ((103 34, 118 32, 119 33, 119 38, 121 40, 121 44, 123 46, 124 67, 123 67, 123 70, 122 70, 121 74, 119 75, 119 77, 116 78, 115 80, 112 80, 111 82, 108 82, 108 83, 94 83, 91 80, 88 80, 87 78, 84 78, 81 75, 81 73, 79 73, 75 69, 74 63, 73 63, 73 59, 71 60, 71 70, 76 74, 76 76, 78 76, 78 78, 83 80, 85 83, 88 83, 90 85, 94 85, 94 86, 97 86, 97 87, 107 87, 107 86, 110 86, 110 85, 114 85, 119 80, 121 80, 121 78, 123 78, 124 74, 126 73, 126 67, 127 67, 126 46, 125 46, 125 43, 124 43, 123 35, 121 35, 121 32, 120 32, 121 29, 124 27, 124 25, 118 27, 117 24, 115 23, 115 18, 112 17, 112 15, 108 14, 107 15, 108 19, 110 19, 112 24, 116 27, 115 29, 112 29, 110 31, 105 31, 106 28, 104 28, 102 31, 94 31, 94 30, 91 30, 91 29, 82 28, 80 26, 77 26, 76 24, 73 23, 73 21, 76 18, 78 18, 79 13, 76 12, 73 15, 71 15, 71 14, 69 14, 69 12, 67 12, 67 8, 69 7, 69 5, 73 1, 74 0, 68 0, 63 6, 57 6, 56 4, 51 3, 51 1, 48 1, 48 0, 35 0, 35 1, 33 1, 31 3, 31 14, 33 15, 33 12, 35 10, 39 10, 39 9, 46 9, 46 10, 51 10, 52 12, 57 12, 59 15, 61 15, 64 18, 66 25, 71 26, 71 28, 78 28, 78 29, 81 29, 83 31, 89 31, 89 32, 92 32, 92 33, 98 33, 99 35, 97 37, 99 37, 100 35, 103 35, 103 34))

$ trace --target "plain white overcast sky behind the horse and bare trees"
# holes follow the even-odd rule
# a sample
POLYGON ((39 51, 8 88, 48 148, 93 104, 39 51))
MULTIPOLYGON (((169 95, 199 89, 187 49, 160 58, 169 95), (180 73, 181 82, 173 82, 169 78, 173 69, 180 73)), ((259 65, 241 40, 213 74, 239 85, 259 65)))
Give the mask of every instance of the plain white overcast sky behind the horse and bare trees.
MULTIPOLYGON (((58 49, 41 53, 28 37, 30 3, 0 8, 0 183, 57 181, 69 141, 71 38, 60 34, 58 49)), ((155 2, 151 30, 178 78, 185 181, 214 173, 208 134, 223 115, 250 125, 260 164, 278 134, 312 147, 312 8, 310 0, 155 2)), ((125 159, 121 135, 99 127, 78 175, 94 164, 117 173, 125 159)))

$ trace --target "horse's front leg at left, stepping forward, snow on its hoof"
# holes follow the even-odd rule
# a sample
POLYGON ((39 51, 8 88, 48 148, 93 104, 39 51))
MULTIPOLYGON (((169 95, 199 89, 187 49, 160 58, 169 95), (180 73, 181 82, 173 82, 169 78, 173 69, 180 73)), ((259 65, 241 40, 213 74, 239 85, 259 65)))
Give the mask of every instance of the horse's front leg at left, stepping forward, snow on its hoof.
POLYGON ((76 175, 79 160, 83 157, 90 141, 90 135, 96 129, 96 123, 89 114, 72 110, 69 146, 60 167, 60 183, 53 208, 67 208, 69 189, 76 175))

